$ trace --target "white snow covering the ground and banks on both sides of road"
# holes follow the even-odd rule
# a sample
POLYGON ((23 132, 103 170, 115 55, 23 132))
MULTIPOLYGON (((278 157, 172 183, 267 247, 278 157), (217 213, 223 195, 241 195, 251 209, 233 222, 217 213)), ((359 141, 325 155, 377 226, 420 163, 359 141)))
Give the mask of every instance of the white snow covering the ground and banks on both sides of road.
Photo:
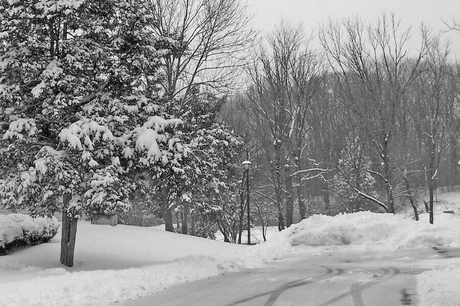
MULTIPOLYGON (((460 193, 438 194, 438 199, 443 196, 458 210, 460 193)), ((73 268, 59 263, 60 233, 50 243, 0 257, 0 305, 110 305, 212 275, 260 267, 276 258, 321 256, 330 249, 389 253, 458 248, 460 220, 444 210, 444 205, 438 206, 435 225, 428 224, 426 214, 419 222, 370 212, 313 216, 281 233, 270 230, 268 241, 256 246, 157 228, 79 222, 73 268)), ((458 305, 460 261, 453 263, 417 276, 421 305, 434 305, 434 300, 458 305)))

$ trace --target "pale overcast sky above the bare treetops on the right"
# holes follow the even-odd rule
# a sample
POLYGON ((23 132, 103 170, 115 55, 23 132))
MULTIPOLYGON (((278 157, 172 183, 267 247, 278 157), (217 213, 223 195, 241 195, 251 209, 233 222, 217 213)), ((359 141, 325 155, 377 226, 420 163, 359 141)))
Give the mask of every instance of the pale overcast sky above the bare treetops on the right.
MULTIPOLYGON (((443 21, 452 17, 460 20, 460 0, 247 0, 249 12, 254 14, 253 23, 262 33, 270 32, 281 18, 302 21, 307 33, 317 33, 318 24, 333 19, 359 15, 367 23, 375 23, 383 11, 394 12, 402 19, 404 28, 412 26, 413 46, 417 47, 419 26, 423 21, 434 31, 447 30, 443 21)), ((451 50, 460 57, 460 33, 447 33, 451 50)))

